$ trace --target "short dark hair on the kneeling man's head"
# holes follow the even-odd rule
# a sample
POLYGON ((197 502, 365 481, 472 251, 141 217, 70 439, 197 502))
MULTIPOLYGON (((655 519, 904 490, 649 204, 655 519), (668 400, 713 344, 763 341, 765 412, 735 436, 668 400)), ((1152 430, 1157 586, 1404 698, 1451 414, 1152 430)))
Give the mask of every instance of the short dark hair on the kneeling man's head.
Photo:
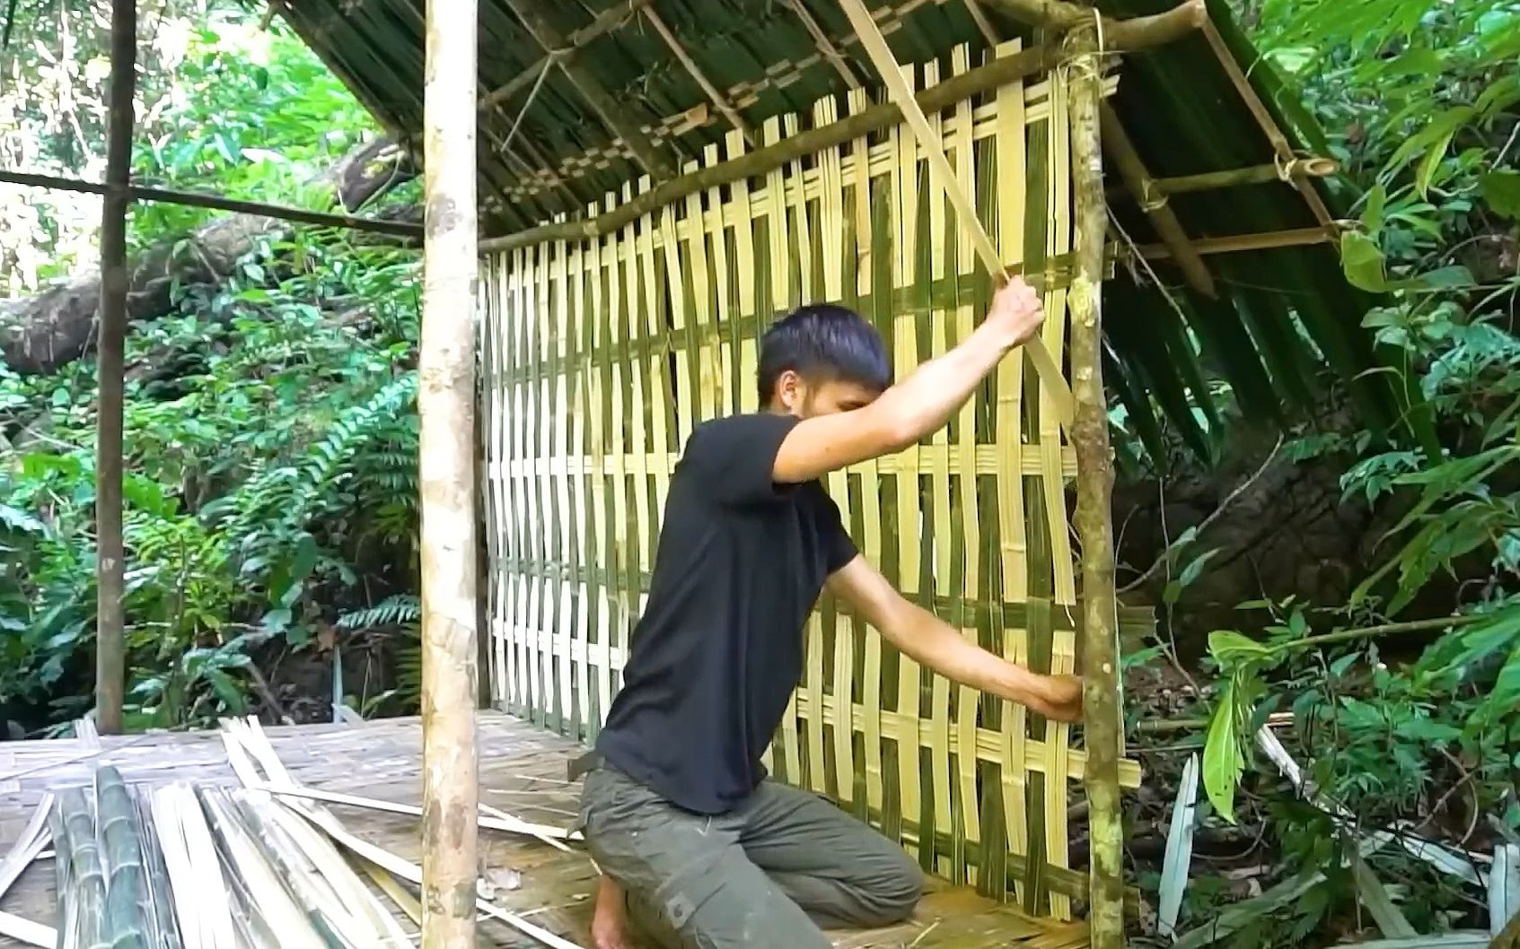
POLYGON ((856 383, 885 390, 892 384, 882 334, 854 310, 833 304, 798 307, 760 340, 760 404, 790 369, 813 383, 856 383))

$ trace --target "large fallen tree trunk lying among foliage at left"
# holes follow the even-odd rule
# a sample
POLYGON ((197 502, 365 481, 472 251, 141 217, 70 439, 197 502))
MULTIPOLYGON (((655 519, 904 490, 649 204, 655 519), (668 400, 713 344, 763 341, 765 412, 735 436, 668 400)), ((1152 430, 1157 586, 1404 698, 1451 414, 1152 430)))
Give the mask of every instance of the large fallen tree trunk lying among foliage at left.
MULTIPOLYGON (((318 175, 347 211, 354 211, 416 175, 406 152, 389 138, 360 144, 318 175)), ((143 322, 170 311, 175 284, 225 279, 260 237, 289 225, 260 214, 219 217, 187 241, 150 247, 128 267, 126 317, 143 322)), ((88 272, 36 296, 0 301, 0 357, 23 375, 52 372, 82 357, 94 343, 100 273, 88 272)))

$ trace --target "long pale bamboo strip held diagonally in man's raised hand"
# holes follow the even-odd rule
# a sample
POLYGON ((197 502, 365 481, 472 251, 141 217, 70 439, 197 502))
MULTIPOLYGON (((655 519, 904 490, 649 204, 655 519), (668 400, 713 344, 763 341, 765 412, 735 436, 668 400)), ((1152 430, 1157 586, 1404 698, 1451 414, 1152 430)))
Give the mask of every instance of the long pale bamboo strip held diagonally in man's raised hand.
MULTIPOLYGON (((977 220, 976 208, 965 196, 964 184, 956 179, 955 169, 950 167, 950 159, 945 158, 938 137, 929 128, 924 109, 914 97, 914 91, 903 77, 903 70, 897 64, 897 59, 892 58, 892 50, 886 46, 886 38, 883 38, 882 30, 877 29, 876 20, 871 18, 869 11, 866 11, 860 0, 841 0, 841 3, 845 14, 850 17, 851 26, 854 26, 856 33, 860 36, 860 43, 865 46, 866 53, 876 64, 877 71, 882 73, 882 79, 886 82, 886 88, 891 91, 894 103, 898 109, 901 109, 904 118, 907 120, 907 128, 914 131, 914 138, 918 140, 918 147, 923 149, 924 156, 929 159, 929 167, 935 169, 939 179, 944 182, 945 196, 950 199, 950 203, 955 205, 956 214, 967 228, 971 246, 976 249, 982 266, 986 267, 988 275, 994 279, 1000 276, 1006 278, 1006 267, 999 258, 997 249, 993 246, 993 240, 986 235, 986 229, 982 228, 982 223, 977 220)), ((971 73, 968 71, 961 76, 970 74, 971 73)), ((792 141, 795 141, 795 138, 792 141)), ((1049 389, 1052 401, 1055 402, 1056 415, 1059 416, 1062 425, 1070 428, 1072 390, 1066 384, 1066 377, 1061 375, 1061 366, 1058 366, 1055 358, 1050 357, 1050 351, 1038 337, 1024 343, 1023 349, 1029 354, 1029 361, 1040 374, 1040 381, 1049 389)))

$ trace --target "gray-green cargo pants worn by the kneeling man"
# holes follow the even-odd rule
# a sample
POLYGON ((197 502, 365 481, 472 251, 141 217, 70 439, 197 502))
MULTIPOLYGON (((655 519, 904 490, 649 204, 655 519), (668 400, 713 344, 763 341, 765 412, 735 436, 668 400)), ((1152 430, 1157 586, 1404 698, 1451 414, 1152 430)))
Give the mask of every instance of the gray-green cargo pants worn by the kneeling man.
POLYGON ((626 894, 638 944, 825 949, 821 926, 895 923, 923 893, 901 847, 772 780, 704 817, 600 764, 585 776, 581 820, 591 856, 626 894))

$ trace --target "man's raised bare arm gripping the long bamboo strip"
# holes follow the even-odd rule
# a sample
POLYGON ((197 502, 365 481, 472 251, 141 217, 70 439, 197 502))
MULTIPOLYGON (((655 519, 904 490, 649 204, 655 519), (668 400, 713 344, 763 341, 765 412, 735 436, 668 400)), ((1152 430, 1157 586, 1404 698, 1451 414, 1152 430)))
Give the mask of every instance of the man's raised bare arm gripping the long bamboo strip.
POLYGON ((918 366, 863 408, 798 422, 777 452, 774 480, 800 484, 856 462, 901 451, 942 428, 1011 349, 1044 320, 1020 279, 1005 284, 986 319, 950 352, 918 366))

